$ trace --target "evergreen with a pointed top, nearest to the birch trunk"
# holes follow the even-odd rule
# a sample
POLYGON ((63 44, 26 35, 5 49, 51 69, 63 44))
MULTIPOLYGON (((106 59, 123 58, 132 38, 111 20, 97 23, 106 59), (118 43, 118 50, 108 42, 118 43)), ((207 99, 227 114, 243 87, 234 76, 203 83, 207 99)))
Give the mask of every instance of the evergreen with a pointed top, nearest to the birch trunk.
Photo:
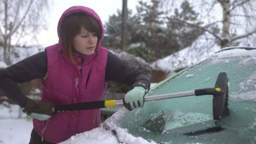
POLYGON ((171 19, 168 19, 168 29, 166 31, 167 37, 171 38, 169 42, 174 42, 173 44, 169 43, 169 45, 172 45, 171 53, 191 45, 193 41, 202 34, 200 28, 191 25, 201 24, 201 22, 197 20, 197 16, 198 13, 193 10, 187 0, 181 4, 180 10, 177 8, 174 10, 174 15, 170 16, 171 19), (179 19, 180 21, 176 21, 176 19, 179 19), (189 21, 190 24, 181 21, 189 21))

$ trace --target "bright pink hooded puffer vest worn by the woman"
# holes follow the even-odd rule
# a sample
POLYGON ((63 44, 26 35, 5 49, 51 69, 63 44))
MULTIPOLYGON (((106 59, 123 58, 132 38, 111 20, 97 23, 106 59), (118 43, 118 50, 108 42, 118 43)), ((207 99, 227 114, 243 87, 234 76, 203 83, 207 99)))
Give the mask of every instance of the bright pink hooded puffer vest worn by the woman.
MULTIPOLYGON (((103 27, 99 16, 90 8, 73 6, 62 14, 58 23, 59 43, 46 48, 48 71, 47 78, 42 79, 42 100, 56 105, 74 104, 102 99, 107 83, 105 69, 107 49, 101 47, 103 27), (101 27, 96 51, 91 56, 74 54, 78 64, 72 64, 65 53, 61 42, 61 22, 72 13, 83 12, 95 18, 101 27), (81 62, 81 57, 85 57, 81 62)), ((59 112, 49 120, 33 119, 35 131, 43 139, 59 143, 69 139, 76 133, 83 133, 96 128, 101 123, 100 109, 59 112)))

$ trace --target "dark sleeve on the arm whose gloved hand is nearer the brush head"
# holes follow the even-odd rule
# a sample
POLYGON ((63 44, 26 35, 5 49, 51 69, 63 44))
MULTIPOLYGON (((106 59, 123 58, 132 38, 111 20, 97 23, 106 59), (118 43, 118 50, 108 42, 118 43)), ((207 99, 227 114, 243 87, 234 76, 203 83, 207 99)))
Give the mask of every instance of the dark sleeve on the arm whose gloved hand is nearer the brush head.
POLYGON ((128 61, 124 61, 115 54, 108 52, 106 81, 130 85, 132 87, 141 86, 149 90, 150 78, 141 69, 133 67, 128 61))

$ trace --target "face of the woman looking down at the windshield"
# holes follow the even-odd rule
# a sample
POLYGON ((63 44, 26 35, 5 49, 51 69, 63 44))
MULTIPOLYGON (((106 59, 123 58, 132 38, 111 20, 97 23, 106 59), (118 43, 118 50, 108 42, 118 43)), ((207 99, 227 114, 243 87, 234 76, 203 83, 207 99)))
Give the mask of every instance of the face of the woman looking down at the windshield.
POLYGON ((81 32, 74 38, 73 46, 75 51, 90 56, 94 53, 97 46, 98 37, 94 32, 88 32, 84 27, 81 32))

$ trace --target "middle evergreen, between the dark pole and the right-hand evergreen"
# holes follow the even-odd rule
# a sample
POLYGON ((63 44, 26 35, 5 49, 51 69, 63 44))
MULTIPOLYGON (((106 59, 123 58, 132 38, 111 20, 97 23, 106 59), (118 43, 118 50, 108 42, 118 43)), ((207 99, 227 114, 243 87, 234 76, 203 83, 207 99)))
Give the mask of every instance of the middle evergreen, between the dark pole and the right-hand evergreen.
POLYGON ((159 0, 151 0, 150 3, 139 1, 136 9, 137 30, 134 35, 139 37, 134 37, 134 42, 141 45, 130 51, 137 51, 137 56, 147 61, 154 61, 159 55, 162 55, 159 53, 163 46, 163 43, 160 45, 160 41, 165 39, 163 21, 160 20, 160 16, 163 14, 163 11, 160 10, 160 2, 159 0))

